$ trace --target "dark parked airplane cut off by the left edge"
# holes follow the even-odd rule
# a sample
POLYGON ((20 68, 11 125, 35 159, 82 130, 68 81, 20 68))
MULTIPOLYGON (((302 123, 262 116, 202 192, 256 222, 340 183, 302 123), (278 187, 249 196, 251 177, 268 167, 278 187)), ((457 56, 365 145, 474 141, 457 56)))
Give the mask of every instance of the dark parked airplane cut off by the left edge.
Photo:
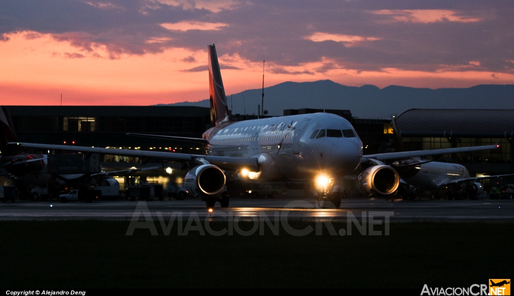
MULTIPOLYGON (((48 165, 48 155, 29 154, 20 146, 8 145, 9 142, 17 142, 18 137, 12 124, 11 116, 5 106, 0 107, 0 168, 3 168, 14 180, 19 180, 38 187, 50 187, 53 191, 59 191, 64 186, 88 186, 94 184, 109 184, 119 188, 118 181, 112 175, 134 174, 141 170, 159 169, 161 167, 131 168, 97 173, 77 174, 51 174, 45 168, 48 165)), ((39 192, 32 192, 33 200, 41 199, 39 192)))

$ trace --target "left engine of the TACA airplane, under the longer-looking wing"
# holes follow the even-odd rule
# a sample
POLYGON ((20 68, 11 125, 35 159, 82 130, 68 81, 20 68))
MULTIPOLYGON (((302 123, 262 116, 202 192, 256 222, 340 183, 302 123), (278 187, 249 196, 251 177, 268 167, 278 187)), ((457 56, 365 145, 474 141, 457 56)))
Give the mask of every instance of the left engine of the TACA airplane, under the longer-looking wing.
POLYGON ((183 185, 192 196, 213 196, 225 189, 225 181, 225 173, 217 166, 199 165, 186 174, 183 185))

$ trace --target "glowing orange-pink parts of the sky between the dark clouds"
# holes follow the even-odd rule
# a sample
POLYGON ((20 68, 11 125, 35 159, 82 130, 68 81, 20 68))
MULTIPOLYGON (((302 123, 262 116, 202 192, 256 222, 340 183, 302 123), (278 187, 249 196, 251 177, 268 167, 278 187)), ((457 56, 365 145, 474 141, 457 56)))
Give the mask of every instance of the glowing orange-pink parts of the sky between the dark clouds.
MULTIPOLYGON (((235 0, 217 6, 210 2, 199 1, 195 4, 197 7, 189 5, 186 0, 151 3, 160 3, 161 6, 168 5, 167 7, 171 8, 181 6, 184 10, 207 11, 211 15, 219 14, 219 16, 241 8, 241 2, 235 0)), ((87 4, 102 11, 125 9, 120 7, 122 4, 109 2, 93 1, 87 4)), ((398 25, 475 26, 490 18, 488 15, 468 15, 450 9, 361 9, 360 11, 369 17, 377 18, 374 21, 378 24, 377 28, 398 25)), ((149 14, 146 10, 140 13, 149 14)), ((159 26, 163 31, 144 36, 142 46, 162 45, 162 50, 143 49, 145 53, 142 54, 131 50, 119 50, 118 53, 113 53, 112 44, 108 42, 90 42, 88 46, 84 46, 80 36, 89 36, 90 33, 70 31, 53 34, 33 30, 11 30, 3 33, 4 41, 0 41, 0 69, 2 69, 0 96, 4 105, 58 105, 61 93, 63 105, 153 105, 205 100, 208 98, 207 70, 192 69, 207 65, 208 41, 205 42, 204 49, 197 49, 197 46, 170 46, 169 43, 177 41, 176 36, 181 36, 177 34, 195 32, 219 34, 224 30, 237 29, 233 24, 222 22, 223 19, 226 18, 219 17, 213 22, 198 21, 194 18, 186 21, 161 22, 159 26), (75 37, 70 38, 70 35, 75 37)), ((411 54, 413 57, 402 53, 406 54, 405 60, 410 58, 409 62, 404 64, 391 60, 381 62, 382 65, 373 66, 372 60, 377 59, 378 54, 390 51, 387 46, 390 46, 389 42, 392 42, 393 37, 380 34, 377 29, 368 31, 369 33, 360 32, 360 34, 358 32, 352 34, 344 30, 330 32, 328 27, 324 28, 319 24, 316 27, 306 21, 305 28, 298 33, 299 41, 308 42, 309 46, 318 46, 320 49, 336 48, 336 50, 327 50, 326 55, 318 54, 316 57, 312 49, 305 48, 306 56, 309 55, 309 57, 304 61, 299 57, 302 55, 302 47, 295 48, 297 53, 294 56, 288 56, 293 53, 287 50, 282 55, 277 54, 283 57, 283 61, 277 58, 266 61, 265 86, 285 81, 307 82, 326 79, 348 86, 372 84, 380 88, 389 85, 442 88, 471 87, 478 84, 514 84, 514 73, 511 70, 497 71, 486 67, 483 61, 490 62, 491 59, 481 56, 474 58, 470 55, 467 59, 460 58, 460 61, 451 63, 434 62, 437 58, 433 58, 430 63, 417 63, 416 53, 411 54), (356 55, 369 50, 369 59, 356 57, 355 61, 351 61, 350 57, 334 56, 332 53, 337 53, 337 46, 344 50, 353 50, 345 53, 346 56, 352 52, 356 55), (377 48, 383 49, 383 52, 372 51, 377 48)), ((216 40, 216 38, 213 39, 216 40)), ((120 41, 120 44, 123 42, 126 43, 126 41, 120 41)), ((238 50, 245 52, 249 42, 249 40, 232 38, 229 42, 222 43, 221 48, 217 46, 227 94, 262 86, 262 60, 249 58, 259 54, 238 53, 238 50)), ((399 39, 395 42, 402 41, 399 39)), ((269 41, 270 48, 271 43, 272 41, 269 41)), ((411 46, 415 47, 415 45, 414 42, 411 46)), ((117 46, 122 47, 122 45, 117 46)), ((409 47, 398 47, 395 50, 408 49, 409 47)), ((421 52, 423 48, 416 50, 421 52)), ((458 54, 452 54, 458 56, 458 54)), ((267 55, 261 56, 266 58, 267 55)), ((391 56, 394 57, 394 54, 391 56)), ((503 66, 504 68, 512 68, 514 58, 509 60, 509 57, 505 57, 502 63, 506 65, 503 66)))

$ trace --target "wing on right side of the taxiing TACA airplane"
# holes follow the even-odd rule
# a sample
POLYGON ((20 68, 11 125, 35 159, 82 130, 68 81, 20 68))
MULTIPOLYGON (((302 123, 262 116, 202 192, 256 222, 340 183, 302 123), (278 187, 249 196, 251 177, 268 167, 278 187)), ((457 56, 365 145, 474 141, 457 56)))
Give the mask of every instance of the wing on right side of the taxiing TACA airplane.
POLYGON ((446 149, 431 149, 431 150, 418 150, 418 151, 406 151, 406 152, 391 152, 391 153, 380 153, 380 154, 368 154, 362 156, 362 161, 368 159, 375 159, 378 161, 389 161, 389 160, 401 160, 408 159, 411 157, 423 157, 450 153, 462 153, 472 152, 481 150, 491 150, 499 148, 499 145, 487 145, 487 146, 475 146, 475 147, 460 147, 460 148, 446 148, 446 149))

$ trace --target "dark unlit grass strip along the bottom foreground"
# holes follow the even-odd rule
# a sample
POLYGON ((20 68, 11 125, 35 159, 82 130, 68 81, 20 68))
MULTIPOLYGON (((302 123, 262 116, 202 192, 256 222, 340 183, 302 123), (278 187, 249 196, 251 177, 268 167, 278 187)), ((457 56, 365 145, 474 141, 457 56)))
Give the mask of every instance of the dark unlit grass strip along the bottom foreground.
MULTIPOLYGON (((512 278, 512 223, 397 223, 389 236, 164 235, 129 222, 0 222, 0 288, 469 287, 512 278)), ((297 229, 314 223, 293 222, 297 229)), ((336 229, 345 227, 337 225, 336 229)), ((218 222, 213 228, 226 227, 218 222)), ((250 225, 242 225, 250 229, 250 225)), ((269 230, 269 229, 266 229, 269 230)))

